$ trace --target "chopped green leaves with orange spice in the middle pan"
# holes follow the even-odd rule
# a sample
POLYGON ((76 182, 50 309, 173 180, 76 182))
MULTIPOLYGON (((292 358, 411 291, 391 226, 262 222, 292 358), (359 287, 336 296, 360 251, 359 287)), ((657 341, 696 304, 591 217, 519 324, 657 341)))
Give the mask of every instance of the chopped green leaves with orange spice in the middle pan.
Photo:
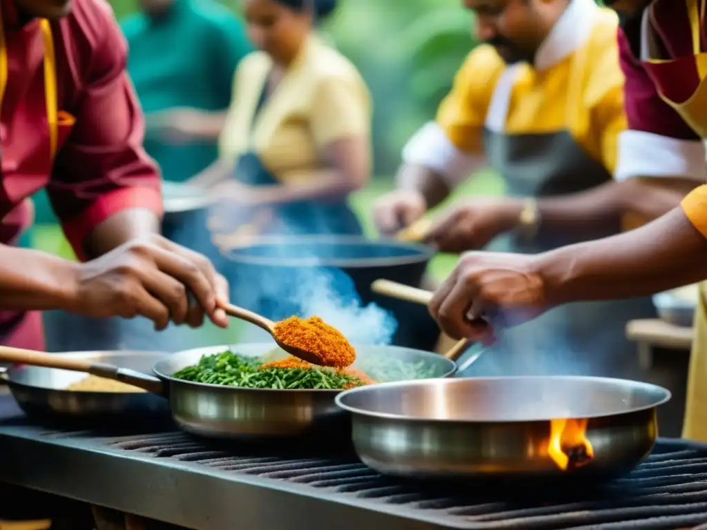
POLYGON ((173 376, 185 381, 255 389, 340 390, 372 384, 373 379, 355 368, 334 369, 297 358, 265 362, 233 351, 203 355, 199 363, 173 376))

